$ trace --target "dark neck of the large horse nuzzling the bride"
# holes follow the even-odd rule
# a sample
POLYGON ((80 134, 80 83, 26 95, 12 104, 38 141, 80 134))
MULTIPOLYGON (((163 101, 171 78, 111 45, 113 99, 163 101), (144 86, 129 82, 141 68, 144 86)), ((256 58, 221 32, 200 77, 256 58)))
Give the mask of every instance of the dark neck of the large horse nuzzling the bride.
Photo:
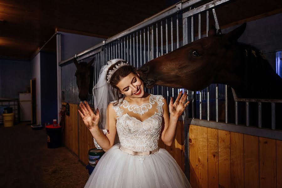
POLYGON ((222 70, 218 75, 218 83, 227 84, 241 94, 242 98, 281 98, 282 79, 275 73, 265 57, 249 45, 241 50, 236 61, 231 62, 234 67, 222 70), (220 80, 221 79, 221 80, 220 80))

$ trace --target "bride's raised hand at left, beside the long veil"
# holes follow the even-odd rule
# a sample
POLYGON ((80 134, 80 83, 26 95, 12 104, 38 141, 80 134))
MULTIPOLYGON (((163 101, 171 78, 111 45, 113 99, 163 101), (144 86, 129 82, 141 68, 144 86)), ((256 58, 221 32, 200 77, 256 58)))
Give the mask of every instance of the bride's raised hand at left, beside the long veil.
POLYGON ((95 115, 86 101, 84 101, 84 104, 80 102, 79 107, 82 112, 78 110, 84 124, 89 130, 93 128, 97 128, 100 119, 99 109, 98 108, 96 109, 96 115, 95 115))

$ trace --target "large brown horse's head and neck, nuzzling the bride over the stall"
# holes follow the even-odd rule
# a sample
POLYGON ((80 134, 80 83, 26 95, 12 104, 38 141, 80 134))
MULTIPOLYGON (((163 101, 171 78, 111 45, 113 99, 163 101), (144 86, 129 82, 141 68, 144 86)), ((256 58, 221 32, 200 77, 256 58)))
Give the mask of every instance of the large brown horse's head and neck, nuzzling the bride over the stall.
POLYGON ((219 83, 233 87, 238 97, 240 93, 247 93, 240 96, 246 98, 270 97, 265 96, 266 92, 258 96, 254 91, 261 87, 277 89, 277 84, 282 86, 282 79, 258 49, 237 42, 245 28, 246 23, 229 33, 216 34, 212 27, 208 37, 148 61, 139 69, 144 85, 200 91, 212 83, 219 83))

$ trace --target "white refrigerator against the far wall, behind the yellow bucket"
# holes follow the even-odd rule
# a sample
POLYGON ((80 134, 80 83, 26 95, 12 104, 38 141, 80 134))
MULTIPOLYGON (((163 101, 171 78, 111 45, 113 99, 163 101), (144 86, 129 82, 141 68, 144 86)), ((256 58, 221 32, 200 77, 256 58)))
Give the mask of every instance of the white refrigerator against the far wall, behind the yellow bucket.
POLYGON ((31 121, 31 94, 19 93, 20 121, 31 121))

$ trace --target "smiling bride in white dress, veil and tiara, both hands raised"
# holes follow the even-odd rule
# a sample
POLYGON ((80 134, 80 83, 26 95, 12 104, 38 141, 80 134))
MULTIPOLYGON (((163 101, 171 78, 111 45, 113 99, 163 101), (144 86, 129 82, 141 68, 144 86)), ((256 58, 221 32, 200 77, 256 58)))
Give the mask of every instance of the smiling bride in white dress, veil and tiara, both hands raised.
POLYGON ((144 91, 135 67, 109 60, 93 88, 96 115, 86 101, 79 104, 95 146, 106 151, 85 187, 191 187, 173 157, 158 147, 160 137, 168 146, 173 143, 178 118, 189 103, 187 93, 181 95, 175 102, 171 97, 168 106, 162 95, 144 91))

